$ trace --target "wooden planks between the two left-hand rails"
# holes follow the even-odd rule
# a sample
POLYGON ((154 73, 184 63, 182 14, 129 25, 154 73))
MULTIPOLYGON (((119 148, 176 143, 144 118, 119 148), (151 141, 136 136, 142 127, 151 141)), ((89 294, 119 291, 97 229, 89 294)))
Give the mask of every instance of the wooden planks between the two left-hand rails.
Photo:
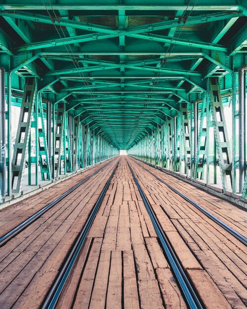
MULTIPOLYGON (((106 169, 1 248, 1 309, 39 307, 94 205, 92 200, 102 192, 116 162, 117 159, 113 159, 106 169)), ((63 191, 68 189, 63 188, 63 191)), ((53 198, 53 193, 54 189, 46 198, 53 198)))

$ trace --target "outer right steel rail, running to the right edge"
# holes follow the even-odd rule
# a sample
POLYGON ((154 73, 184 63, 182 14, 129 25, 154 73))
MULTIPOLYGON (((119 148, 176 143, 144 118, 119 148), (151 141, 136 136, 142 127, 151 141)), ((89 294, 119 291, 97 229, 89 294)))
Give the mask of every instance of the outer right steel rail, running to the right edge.
MULTIPOLYGON (((134 158, 136 159, 136 158, 134 158)), ((137 160, 137 159, 136 159, 137 160)), ((204 215, 206 215, 208 218, 210 218, 213 222, 217 223, 221 228, 223 228, 225 231, 229 232, 231 235, 233 235, 236 239, 241 241, 244 245, 247 246, 247 237, 240 234, 239 232, 235 231, 231 227, 229 227, 226 223, 218 219, 216 216, 214 216, 211 212, 194 202, 191 198, 186 196, 185 194, 181 193, 171 185, 169 185, 167 182, 156 176, 154 173, 150 172, 147 168, 142 166, 140 163, 136 162, 139 166, 141 166, 144 170, 146 170, 148 173, 150 173, 153 177, 155 177, 157 180, 165 184, 168 188, 170 188, 172 191, 174 191, 176 194, 180 195, 183 199, 185 199, 187 202, 189 202, 191 205, 195 206, 198 210, 200 210, 204 215)), ((161 170, 162 171, 162 170, 161 170)), ((163 172, 163 171, 162 171, 163 172)), ((164 173, 164 172, 163 172, 164 173)))

